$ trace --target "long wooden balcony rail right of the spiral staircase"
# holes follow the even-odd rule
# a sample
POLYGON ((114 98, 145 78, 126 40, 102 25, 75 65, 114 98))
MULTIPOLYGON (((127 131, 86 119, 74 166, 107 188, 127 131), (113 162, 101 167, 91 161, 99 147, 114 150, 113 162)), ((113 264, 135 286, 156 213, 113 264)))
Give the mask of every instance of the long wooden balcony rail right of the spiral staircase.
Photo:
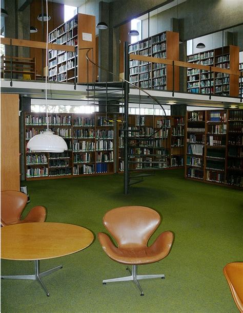
MULTIPOLYGON (((145 61, 145 62, 151 62, 151 63, 160 63, 160 64, 166 64, 166 65, 173 64, 173 60, 153 58, 153 57, 144 57, 144 56, 138 56, 137 54, 129 54, 129 58, 130 60, 138 60, 138 61, 145 61)), ((176 60, 174 61, 174 66, 190 67, 190 68, 197 68, 201 70, 210 71, 210 66, 208 65, 193 64, 189 62, 181 62, 181 61, 176 61, 176 60)), ((211 66, 211 71, 237 75, 237 76, 240 75, 240 71, 238 70, 230 70, 230 69, 220 68, 220 67, 215 67, 215 66, 211 66)))

